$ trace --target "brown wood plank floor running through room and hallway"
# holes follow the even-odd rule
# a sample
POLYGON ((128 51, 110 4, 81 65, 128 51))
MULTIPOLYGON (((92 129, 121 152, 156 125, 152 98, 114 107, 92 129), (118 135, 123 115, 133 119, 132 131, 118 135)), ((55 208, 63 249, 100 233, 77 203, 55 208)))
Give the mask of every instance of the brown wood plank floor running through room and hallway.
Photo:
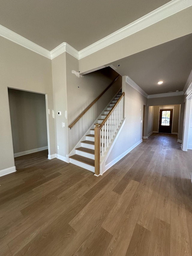
POLYGON ((191 256, 192 150, 152 134, 103 176, 15 158, 0 177, 0 255, 191 256))

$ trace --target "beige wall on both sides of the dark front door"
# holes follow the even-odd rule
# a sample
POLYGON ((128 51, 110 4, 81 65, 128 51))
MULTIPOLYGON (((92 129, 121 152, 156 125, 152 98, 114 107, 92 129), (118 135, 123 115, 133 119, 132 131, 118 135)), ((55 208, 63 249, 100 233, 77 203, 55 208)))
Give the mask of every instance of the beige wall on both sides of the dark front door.
MULTIPOLYGON (((173 132, 178 133, 180 105, 178 104, 174 106, 175 108, 173 113, 173 132)), ((153 131, 158 131, 158 123, 159 123, 159 106, 154 106, 153 131)))

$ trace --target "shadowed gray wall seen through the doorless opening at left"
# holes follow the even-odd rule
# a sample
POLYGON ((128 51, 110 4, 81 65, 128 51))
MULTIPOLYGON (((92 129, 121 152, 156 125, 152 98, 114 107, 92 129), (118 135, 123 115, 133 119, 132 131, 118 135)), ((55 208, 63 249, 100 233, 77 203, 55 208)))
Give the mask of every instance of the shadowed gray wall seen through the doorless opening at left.
POLYGON ((8 92, 14 153, 47 146, 45 95, 8 92))

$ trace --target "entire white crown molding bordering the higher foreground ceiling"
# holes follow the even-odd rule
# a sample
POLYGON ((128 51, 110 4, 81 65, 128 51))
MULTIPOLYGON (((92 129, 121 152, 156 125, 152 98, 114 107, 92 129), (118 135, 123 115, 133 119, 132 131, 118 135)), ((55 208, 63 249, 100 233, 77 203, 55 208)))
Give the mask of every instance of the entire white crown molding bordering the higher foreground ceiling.
POLYGON ((141 31, 161 20, 170 17, 188 7, 192 6, 191 0, 172 0, 165 5, 155 9, 154 11, 144 15, 143 17, 135 20, 134 22, 128 24, 127 26, 113 32, 112 34, 102 38, 101 40, 95 42, 94 44, 85 47, 79 52, 67 43, 62 43, 57 46, 52 51, 46 50, 45 48, 33 43, 32 41, 16 34, 10 29, 5 28, 0 25, 0 36, 7 38, 8 40, 19 44, 35 53, 38 53, 48 59, 53 59, 61 53, 67 52, 76 59, 82 59, 92 53, 95 53, 111 44, 114 44, 136 32, 141 31))

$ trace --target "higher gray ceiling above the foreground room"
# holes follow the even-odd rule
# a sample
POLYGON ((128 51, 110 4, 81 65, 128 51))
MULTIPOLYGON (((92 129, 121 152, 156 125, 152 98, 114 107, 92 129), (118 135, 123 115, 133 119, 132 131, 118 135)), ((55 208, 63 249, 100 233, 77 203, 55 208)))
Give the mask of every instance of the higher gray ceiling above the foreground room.
POLYGON ((169 0, 1 0, 0 24, 51 51, 95 43, 169 0))

